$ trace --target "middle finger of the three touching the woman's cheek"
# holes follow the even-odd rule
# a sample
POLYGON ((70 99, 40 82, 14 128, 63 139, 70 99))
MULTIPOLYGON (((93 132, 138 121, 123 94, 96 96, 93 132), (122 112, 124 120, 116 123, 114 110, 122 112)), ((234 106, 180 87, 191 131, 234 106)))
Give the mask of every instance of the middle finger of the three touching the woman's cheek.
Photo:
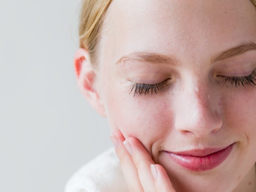
POLYGON ((150 154, 142 143, 134 137, 128 137, 124 144, 127 150, 131 151, 132 160, 138 169, 139 179, 144 191, 155 192, 154 178, 150 168, 150 165, 155 163, 150 154))

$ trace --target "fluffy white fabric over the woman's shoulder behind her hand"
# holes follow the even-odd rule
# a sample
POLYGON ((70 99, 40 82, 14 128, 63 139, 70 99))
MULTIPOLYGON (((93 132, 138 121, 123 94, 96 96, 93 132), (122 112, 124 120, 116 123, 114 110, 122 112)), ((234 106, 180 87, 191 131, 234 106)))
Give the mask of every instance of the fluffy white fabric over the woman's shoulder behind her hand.
POLYGON ((127 184, 111 148, 84 165, 66 185, 65 192, 128 192, 127 184))

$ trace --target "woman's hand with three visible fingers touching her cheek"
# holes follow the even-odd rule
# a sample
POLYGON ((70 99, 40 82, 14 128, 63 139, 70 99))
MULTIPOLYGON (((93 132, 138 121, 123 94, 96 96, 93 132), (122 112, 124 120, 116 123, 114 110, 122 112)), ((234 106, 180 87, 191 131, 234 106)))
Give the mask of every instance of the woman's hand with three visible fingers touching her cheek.
POLYGON ((110 134, 130 192, 175 192, 165 169, 134 138, 118 130, 110 134))

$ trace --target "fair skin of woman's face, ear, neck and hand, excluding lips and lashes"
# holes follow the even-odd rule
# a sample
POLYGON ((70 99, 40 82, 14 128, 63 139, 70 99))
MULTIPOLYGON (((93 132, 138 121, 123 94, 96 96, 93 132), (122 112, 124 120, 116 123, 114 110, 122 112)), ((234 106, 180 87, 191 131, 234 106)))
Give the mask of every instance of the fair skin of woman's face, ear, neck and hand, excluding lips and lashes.
POLYGON ((255 20, 249 0, 111 3, 98 70, 84 49, 75 67, 86 99, 109 120, 130 191, 256 191, 256 86, 223 83, 256 71, 255 20), (152 53, 172 61, 155 62, 152 53), (165 80, 157 94, 130 90, 133 83, 165 80), (205 171, 180 166, 165 153, 231 144, 228 157, 205 171))

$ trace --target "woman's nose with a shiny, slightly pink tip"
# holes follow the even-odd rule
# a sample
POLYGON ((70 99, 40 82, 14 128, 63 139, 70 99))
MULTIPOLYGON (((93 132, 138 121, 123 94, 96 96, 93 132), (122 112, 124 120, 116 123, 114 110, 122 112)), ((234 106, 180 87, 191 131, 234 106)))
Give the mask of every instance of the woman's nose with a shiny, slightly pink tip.
POLYGON ((217 132, 222 127, 217 98, 207 85, 190 83, 189 88, 181 91, 177 97, 175 129, 182 133, 193 133, 197 137, 217 132))

